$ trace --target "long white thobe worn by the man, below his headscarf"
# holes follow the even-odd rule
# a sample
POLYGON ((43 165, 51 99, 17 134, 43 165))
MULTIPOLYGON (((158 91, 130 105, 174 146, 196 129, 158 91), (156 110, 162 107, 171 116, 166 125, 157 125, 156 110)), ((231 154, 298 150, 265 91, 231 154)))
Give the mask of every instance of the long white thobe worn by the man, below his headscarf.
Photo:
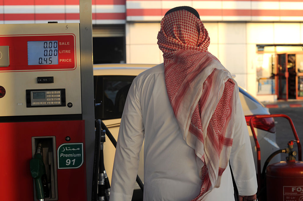
MULTIPOLYGON (((230 163, 239 194, 248 196, 257 192, 257 180, 239 97, 236 111, 230 163)), ((143 139, 143 200, 185 201, 198 196, 201 179, 195 150, 183 139, 168 100, 163 64, 142 72, 129 89, 115 152, 110 201, 132 199, 143 139)), ((222 174, 220 187, 208 192, 203 200, 235 200, 229 166, 222 174)))

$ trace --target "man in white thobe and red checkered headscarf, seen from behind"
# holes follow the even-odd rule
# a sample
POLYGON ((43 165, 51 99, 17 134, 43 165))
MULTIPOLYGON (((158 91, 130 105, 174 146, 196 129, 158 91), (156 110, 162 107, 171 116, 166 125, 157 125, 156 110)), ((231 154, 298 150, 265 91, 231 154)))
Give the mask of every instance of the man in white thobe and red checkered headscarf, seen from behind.
POLYGON ((138 75, 122 115, 110 201, 131 200, 144 142, 144 200, 257 200, 248 130, 230 73, 207 48, 191 7, 169 10, 158 45, 164 64, 138 75))

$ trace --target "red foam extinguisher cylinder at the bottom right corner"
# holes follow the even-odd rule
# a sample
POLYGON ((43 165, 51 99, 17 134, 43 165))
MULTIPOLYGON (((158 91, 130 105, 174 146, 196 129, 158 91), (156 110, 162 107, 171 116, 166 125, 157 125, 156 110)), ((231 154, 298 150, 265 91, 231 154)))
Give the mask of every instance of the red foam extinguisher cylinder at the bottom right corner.
POLYGON ((303 201, 303 162, 281 161, 266 171, 267 201, 303 201))

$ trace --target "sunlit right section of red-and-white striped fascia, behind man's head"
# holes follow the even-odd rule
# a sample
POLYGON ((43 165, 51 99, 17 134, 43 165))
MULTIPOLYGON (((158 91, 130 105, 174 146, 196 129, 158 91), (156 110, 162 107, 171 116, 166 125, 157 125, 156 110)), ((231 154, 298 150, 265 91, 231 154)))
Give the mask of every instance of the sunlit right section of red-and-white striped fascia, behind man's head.
POLYGON ((160 21, 182 5, 195 8, 202 21, 303 21, 301 0, 126 0, 126 20, 160 21))

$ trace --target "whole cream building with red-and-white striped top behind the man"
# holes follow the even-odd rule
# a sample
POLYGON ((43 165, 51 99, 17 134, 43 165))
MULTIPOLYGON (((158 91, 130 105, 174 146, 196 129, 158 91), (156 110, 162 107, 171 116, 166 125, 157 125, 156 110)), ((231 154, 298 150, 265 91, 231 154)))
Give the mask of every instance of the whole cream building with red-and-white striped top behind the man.
MULTIPOLYGON (((195 8, 209 52, 260 101, 303 98, 303 1, 92 0, 94 63, 163 62, 160 21, 170 8, 195 8)), ((77 0, 2 0, 0 23, 79 22, 77 0)))

